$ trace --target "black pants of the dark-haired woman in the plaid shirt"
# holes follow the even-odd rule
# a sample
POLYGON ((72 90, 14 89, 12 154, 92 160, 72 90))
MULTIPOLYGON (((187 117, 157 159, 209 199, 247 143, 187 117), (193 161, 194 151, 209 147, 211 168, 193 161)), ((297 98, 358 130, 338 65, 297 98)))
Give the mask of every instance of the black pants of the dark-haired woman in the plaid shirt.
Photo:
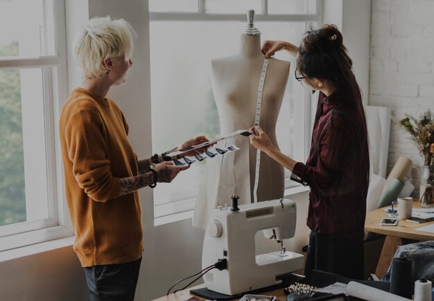
POLYGON ((338 233, 311 231, 304 274, 324 270, 353 279, 363 279, 363 241, 347 239, 338 233))

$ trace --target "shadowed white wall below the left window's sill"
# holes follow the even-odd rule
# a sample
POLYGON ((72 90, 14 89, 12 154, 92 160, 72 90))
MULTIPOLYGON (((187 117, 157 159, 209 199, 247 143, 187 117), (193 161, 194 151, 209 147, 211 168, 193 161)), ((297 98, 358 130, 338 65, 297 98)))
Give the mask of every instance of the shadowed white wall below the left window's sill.
POLYGON ((83 268, 72 246, 0 262, 2 301, 87 300, 83 268))

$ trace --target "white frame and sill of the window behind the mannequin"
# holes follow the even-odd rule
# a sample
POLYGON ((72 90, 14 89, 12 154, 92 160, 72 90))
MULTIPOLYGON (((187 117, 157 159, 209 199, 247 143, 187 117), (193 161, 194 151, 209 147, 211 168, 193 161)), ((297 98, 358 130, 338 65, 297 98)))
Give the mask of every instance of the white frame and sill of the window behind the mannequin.
MULTIPOLYGON (((210 21, 210 22, 225 22, 236 21, 246 22, 245 14, 225 14, 225 13, 209 13, 205 8, 206 0, 198 0, 198 12, 149 12, 149 22, 194 22, 194 21, 210 21)), ((270 15, 268 14, 268 0, 261 0, 261 12, 256 12, 254 22, 305 22, 306 30, 309 30, 312 23, 318 25, 323 23, 323 3, 321 0, 315 0, 315 14, 286 14, 286 15, 270 15)), ((148 41, 148 45, 149 45, 148 41)), ((316 94, 315 94, 316 95, 316 94)), ((295 112, 303 112, 303 114, 294 114, 295 123, 300 126, 297 132, 302 139, 300 148, 294 149, 294 157, 302 157, 304 160, 309 155, 311 145, 311 131, 313 128, 313 118, 315 116, 316 98, 312 95, 309 89, 304 93, 303 101, 296 101, 294 105, 295 112)), ((152 122, 152 121, 151 121, 152 122)), ((285 170, 285 196, 292 193, 299 193, 305 189, 300 189, 300 184, 290 180, 290 171, 285 170)), ((194 189, 196 191, 198 189, 194 189)), ((174 200, 162 205, 153 205, 154 225, 164 225, 175 221, 181 221, 193 216, 194 203, 196 197, 193 195, 193 190, 189 196, 180 200, 174 200), (164 207, 157 208, 157 207, 164 207), (177 207, 177 208, 175 208, 177 207)), ((197 193, 196 193, 197 194, 197 193)))

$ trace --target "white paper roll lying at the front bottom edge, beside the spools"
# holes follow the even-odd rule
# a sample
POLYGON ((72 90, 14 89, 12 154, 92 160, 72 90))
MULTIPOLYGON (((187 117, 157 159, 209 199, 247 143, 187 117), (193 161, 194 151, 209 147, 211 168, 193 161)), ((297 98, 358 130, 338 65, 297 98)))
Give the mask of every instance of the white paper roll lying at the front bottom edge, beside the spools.
POLYGON ((403 298, 387 291, 381 291, 381 289, 375 289, 374 287, 355 281, 348 283, 347 295, 368 301, 411 301, 411 299, 403 298))

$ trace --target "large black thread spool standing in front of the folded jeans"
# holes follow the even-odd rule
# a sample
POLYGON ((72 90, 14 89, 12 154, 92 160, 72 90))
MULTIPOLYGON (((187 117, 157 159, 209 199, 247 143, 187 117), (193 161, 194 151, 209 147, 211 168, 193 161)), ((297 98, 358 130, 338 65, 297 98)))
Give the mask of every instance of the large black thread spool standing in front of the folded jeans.
POLYGON ((407 257, 401 256, 392 260, 389 292, 411 299, 413 293, 412 267, 407 257))

